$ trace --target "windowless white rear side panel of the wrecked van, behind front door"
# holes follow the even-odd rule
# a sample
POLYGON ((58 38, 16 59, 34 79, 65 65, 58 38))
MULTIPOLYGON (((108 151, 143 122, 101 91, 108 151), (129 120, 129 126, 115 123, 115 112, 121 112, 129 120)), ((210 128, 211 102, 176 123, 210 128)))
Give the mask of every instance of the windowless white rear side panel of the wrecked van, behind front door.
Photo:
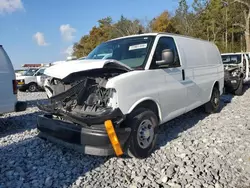
POLYGON ((189 106, 187 112, 210 100, 216 81, 220 93, 224 87, 224 69, 218 48, 210 42, 185 37, 175 37, 183 60, 187 84, 189 106))

